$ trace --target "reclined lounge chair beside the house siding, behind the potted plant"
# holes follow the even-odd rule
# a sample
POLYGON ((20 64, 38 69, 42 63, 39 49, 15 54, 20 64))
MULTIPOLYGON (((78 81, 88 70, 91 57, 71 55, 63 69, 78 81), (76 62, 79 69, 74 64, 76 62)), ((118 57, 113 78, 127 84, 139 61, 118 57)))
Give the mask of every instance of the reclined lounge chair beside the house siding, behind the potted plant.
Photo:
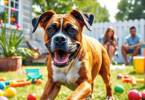
POLYGON ((41 44, 38 41, 35 40, 27 40, 26 44, 28 46, 29 49, 31 49, 33 51, 33 57, 29 57, 28 61, 27 61, 27 65, 30 64, 30 62, 32 62, 32 60, 36 60, 36 59, 44 59, 46 58, 46 61, 44 64, 47 63, 47 58, 49 55, 48 50, 44 49, 41 44))

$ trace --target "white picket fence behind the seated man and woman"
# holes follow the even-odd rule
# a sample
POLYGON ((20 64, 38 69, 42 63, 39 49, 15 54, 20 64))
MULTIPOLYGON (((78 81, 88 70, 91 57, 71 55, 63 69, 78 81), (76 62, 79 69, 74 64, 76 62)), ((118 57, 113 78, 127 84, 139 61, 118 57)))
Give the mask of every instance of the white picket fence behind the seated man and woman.
MULTIPOLYGON (((129 35, 129 28, 131 26, 136 27, 136 31, 138 34, 142 36, 143 42, 145 42, 145 19, 135 19, 135 20, 129 20, 129 21, 119 21, 115 23, 111 22, 105 22, 105 23, 94 23, 92 25, 92 31, 88 31, 85 27, 83 30, 83 34, 89 35, 91 37, 96 38, 99 40, 99 38, 105 33, 106 29, 112 26, 115 29, 117 37, 119 37, 119 43, 118 43, 118 51, 119 51, 119 58, 117 58, 117 62, 124 62, 123 56, 121 54, 121 46, 124 41, 124 38, 129 35)), ((142 54, 143 55, 143 50, 142 54)))

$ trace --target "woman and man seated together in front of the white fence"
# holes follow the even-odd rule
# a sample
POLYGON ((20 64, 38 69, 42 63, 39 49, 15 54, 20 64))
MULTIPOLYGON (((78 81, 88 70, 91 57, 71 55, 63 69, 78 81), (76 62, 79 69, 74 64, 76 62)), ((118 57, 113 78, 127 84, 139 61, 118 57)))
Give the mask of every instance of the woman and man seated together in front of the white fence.
MULTIPOLYGON (((110 62, 112 62, 112 57, 115 51, 118 49, 117 37, 113 27, 107 28, 105 34, 101 37, 101 44, 106 49, 110 58, 110 62)), ((125 65, 132 65, 133 56, 136 56, 141 53, 141 44, 142 39, 139 34, 136 34, 136 28, 134 26, 130 27, 130 35, 125 37, 123 45, 121 47, 122 55, 125 60, 125 65), (132 53, 132 58, 130 62, 127 61, 127 53, 132 53)))

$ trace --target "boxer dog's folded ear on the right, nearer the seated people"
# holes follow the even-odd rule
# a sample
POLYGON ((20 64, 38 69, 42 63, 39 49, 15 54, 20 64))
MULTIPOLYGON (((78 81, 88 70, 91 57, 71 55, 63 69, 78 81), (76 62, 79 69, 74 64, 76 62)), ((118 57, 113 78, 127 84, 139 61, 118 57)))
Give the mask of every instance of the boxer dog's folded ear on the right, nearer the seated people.
POLYGON ((94 14, 83 13, 77 10, 71 10, 70 14, 72 14, 77 20, 83 22, 83 24, 88 28, 88 30, 92 30, 91 26, 93 24, 94 14))

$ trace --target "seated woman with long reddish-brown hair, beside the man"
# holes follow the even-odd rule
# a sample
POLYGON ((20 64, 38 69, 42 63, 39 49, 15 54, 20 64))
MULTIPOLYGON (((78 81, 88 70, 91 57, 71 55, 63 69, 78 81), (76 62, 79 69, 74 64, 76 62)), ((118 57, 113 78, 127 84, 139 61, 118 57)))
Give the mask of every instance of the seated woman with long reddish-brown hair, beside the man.
POLYGON ((107 50, 107 53, 110 58, 110 62, 112 62, 112 57, 115 51, 118 49, 116 41, 117 41, 117 37, 115 34, 115 30, 113 29, 113 27, 110 26, 107 28, 105 34, 101 38, 101 44, 107 50))

